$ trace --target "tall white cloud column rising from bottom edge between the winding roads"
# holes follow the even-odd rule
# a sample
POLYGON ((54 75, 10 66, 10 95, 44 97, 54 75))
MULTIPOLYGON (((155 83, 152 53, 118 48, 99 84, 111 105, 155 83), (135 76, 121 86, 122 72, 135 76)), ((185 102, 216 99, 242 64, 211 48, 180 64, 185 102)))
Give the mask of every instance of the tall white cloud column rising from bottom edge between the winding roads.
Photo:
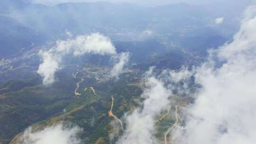
POLYGON ((171 91, 166 90, 164 83, 150 77, 147 79, 147 89, 141 97, 145 98, 143 108, 137 108, 131 115, 125 117, 128 131, 117 144, 158 144, 155 138, 155 117, 168 105, 171 91))

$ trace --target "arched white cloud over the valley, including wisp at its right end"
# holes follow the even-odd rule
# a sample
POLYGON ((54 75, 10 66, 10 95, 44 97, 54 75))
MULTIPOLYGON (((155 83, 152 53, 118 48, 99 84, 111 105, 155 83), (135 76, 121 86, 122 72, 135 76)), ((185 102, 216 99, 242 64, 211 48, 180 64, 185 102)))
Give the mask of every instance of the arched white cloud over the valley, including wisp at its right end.
MULTIPOLYGON (((75 39, 58 40, 56 45, 48 51, 39 52, 43 63, 39 65, 37 72, 43 76, 44 84, 52 84, 54 82, 55 72, 61 69, 59 64, 66 54, 81 56, 83 54, 116 55, 117 53, 110 39, 99 33, 93 33, 89 36, 77 36, 75 39)), ((116 66, 117 69, 128 61, 123 57, 126 55, 121 54, 119 65, 116 66)))

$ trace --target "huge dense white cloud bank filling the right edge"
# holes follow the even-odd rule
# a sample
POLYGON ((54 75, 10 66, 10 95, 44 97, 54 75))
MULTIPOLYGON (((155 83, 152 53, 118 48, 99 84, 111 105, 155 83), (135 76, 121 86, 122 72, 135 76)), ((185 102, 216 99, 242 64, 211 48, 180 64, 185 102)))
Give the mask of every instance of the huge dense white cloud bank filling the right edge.
POLYGON ((255 26, 256 6, 252 6, 233 41, 211 51, 223 65, 216 68, 210 59, 196 69, 195 80, 202 88, 186 111, 191 128, 180 144, 255 144, 255 26))

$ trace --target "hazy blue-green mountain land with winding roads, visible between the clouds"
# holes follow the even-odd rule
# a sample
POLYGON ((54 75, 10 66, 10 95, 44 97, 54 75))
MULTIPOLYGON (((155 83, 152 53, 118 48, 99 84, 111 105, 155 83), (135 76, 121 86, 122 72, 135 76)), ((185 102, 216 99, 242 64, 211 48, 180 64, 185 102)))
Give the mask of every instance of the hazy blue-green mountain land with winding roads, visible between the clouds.
MULTIPOLYGON (((0 144, 21 144, 19 136, 26 128, 35 132, 59 123, 82 127, 79 137, 84 144, 115 143, 119 135, 109 134, 121 129, 111 116, 114 113, 121 119, 135 108, 143 108, 145 98, 140 95, 148 87, 148 70, 155 67, 156 73, 168 73, 200 65, 209 49, 232 39, 239 26, 237 18, 246 6, 243 2, 155 7, 81 2, 50 7, 29 1, 3 0, 0 5, 0 144), (227 14, 229 9, 238 10, 227 14), (222 17, 223 23, 215 24, 222 17), (110 75, 113 57, 109 55, 74 58, 66 54, 55 82, 42 84, 37 73, 42 63, 40 50, 50 49, 58 40, 97 32, 110 38, 118 54, 130 53, 122 74, 110 75), (110 113, 112 98, 115 104, 110 113)), ((176 93, 172 104, 193 102, 192 96, 176 93)), ((154 135, 163 140, 166 125, 174 120, 172 113, 157 123, 154 135)))

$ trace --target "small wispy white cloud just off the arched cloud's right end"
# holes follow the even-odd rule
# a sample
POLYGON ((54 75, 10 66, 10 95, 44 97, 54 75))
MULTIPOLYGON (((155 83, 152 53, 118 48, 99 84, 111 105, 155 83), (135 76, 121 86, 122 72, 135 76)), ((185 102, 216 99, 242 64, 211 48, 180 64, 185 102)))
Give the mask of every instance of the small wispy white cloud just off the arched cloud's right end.
POLYGON ((125 64, 127 64, 129 61, 129 53, 118 54, 114 57, 114 59, 116 59, 119 62, 114 65, 110 74, 111 74, 111 76, 116 77, 120 73, 123 73, 123 68, 124 68, 125 64))

